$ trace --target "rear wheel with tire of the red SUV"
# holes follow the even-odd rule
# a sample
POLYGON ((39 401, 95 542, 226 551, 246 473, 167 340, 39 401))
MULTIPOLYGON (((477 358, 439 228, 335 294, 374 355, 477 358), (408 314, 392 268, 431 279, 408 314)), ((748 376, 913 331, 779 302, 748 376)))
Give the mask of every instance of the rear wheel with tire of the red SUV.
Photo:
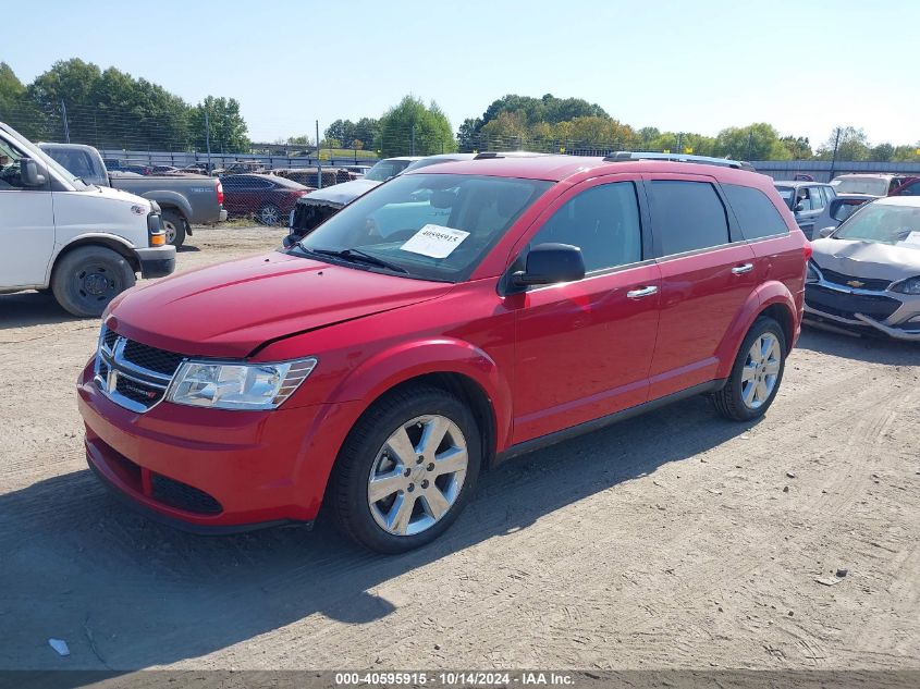
POLYGON ((786 336, 772 318, 758 318, 738 349, 725 386, 712 395, 715 408, 733 421, 763 416, 783 381, 786 336))

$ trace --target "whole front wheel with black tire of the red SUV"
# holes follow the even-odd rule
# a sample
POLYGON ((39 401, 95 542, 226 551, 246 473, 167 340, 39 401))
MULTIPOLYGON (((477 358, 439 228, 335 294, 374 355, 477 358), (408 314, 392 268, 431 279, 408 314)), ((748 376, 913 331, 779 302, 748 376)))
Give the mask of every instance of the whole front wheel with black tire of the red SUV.
POLYGON ((433 541, 469 502, 481 464, 479 429, 454 395, 429 385, 388 394, 339 453, 329 500, 339 528, 379 553, 433 541))

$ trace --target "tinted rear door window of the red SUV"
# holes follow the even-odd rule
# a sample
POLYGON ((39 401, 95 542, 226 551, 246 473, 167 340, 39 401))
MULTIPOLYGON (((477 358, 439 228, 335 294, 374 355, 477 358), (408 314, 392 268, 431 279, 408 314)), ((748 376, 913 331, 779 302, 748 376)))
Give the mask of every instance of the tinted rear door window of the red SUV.
POLYGON ((649 188, 662 256, 729 242, 725 207, 708 182, 654 180, 649 188))

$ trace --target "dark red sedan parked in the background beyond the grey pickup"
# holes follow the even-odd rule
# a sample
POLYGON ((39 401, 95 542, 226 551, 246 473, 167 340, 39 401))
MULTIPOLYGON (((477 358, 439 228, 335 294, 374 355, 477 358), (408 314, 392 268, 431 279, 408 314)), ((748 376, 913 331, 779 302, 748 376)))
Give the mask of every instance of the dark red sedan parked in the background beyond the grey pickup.
POLYGON ((315 190, 273 174, 230 174, 221 184, 228 214, 250 216, 269 226, 286 222, 297 199, 315 190))

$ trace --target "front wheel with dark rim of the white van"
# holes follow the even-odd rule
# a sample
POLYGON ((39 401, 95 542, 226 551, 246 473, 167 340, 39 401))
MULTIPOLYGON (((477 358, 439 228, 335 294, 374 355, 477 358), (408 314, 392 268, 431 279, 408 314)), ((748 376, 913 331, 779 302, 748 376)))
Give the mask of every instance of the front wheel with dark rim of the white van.
POLYGON ((103 246, 84 246, 62 258, 51 275, 58 304, 81 318, 99 317, 116 294, 134 286, 134 269, 103 246))

